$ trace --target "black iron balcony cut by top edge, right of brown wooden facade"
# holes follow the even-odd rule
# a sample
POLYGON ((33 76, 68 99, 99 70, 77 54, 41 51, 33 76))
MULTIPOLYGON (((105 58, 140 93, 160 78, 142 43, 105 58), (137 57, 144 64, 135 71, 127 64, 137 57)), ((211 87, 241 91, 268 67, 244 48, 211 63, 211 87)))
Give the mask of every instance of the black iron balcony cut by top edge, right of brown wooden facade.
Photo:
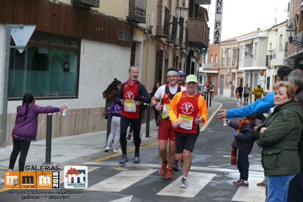
POLYGON ((129 0, 126 20, 135 23, 146 23, 146 0, 129 0))

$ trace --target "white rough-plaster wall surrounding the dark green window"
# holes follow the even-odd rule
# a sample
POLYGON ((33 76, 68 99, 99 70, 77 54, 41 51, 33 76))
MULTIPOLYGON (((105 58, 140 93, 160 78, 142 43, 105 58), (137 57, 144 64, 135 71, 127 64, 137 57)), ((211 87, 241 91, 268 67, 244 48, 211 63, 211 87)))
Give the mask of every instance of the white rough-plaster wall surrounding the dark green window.
MULTIPOLYGON (((5 26, 0 25, 0 113, 3 108, 3 79, 5 57, 5 26)), ((117 78, 128 79, 130 47, 92 40, 81 40, 79 98, 37 100, 41 106, 62 106, 65 102, 71 109, 104 107, 102 92, 117 78)), ((15 113, 21 100, 8 102, 8 113, 15 113)))

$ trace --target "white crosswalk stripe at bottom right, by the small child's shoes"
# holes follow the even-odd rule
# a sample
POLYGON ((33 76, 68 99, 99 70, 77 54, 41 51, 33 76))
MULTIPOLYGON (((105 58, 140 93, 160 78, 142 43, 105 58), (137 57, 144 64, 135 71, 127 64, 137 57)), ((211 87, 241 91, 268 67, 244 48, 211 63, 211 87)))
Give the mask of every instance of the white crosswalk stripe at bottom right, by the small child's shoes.
POLYGON ((249 186, 239 187, 235 195, 232 197, 232 201, 265 201, 265 188, 257 186, 258 182, 261 182, 264 177, 248 178, 249 186), (258 193, 258 194, 256 194, 258 193))

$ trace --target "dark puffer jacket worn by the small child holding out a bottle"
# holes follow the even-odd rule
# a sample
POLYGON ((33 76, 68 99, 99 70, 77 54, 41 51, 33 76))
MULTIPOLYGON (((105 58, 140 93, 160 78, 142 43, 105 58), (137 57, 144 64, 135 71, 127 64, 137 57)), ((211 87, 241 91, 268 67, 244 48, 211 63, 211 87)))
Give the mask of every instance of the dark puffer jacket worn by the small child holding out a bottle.
MULTIPOLYGON (((229 122, 229 126, 234 128, 235 130, 238 129, 239 124, 233 121, 229 122)), ((250 151, 252 149, 252 146, 255 142, 254 137, 254 127, 256 125, 253 122, 250 122, 249 124, 245 125, 243 128, 241 128, 240 132, 237 135, 237 139, 231 144, 246 155, 250 154, 250 151)))

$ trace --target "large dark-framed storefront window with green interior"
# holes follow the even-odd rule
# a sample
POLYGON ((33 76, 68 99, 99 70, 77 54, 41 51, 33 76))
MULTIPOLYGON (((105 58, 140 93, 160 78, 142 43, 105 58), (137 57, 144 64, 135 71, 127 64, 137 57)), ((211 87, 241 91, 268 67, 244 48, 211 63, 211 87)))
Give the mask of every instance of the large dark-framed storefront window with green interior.
POLYGON ((20 99, 26 92, 41 99, 76 98, 79 46, 79 40, 34 33, 22 54, 12 49, 9 99, 20 99))

